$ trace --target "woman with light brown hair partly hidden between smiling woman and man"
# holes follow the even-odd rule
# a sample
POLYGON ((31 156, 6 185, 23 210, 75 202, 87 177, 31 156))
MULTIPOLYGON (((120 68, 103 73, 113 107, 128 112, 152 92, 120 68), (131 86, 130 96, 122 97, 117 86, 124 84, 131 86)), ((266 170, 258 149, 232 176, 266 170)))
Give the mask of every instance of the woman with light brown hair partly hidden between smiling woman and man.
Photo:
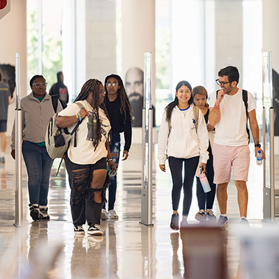
POLYGON ((204 120, 206 123, 207 131, 209 133, 209 148, 207 151, 209 152, 209 160, 207 160, 206 164, 206 177, 209 181, 209 185, 211 188, 211 191, 208 193, 204 193, 204 189, 202 188, 202 183, 199 180, 199 168, 196 172, 196 180, 197 180, 197 203, 199 206, 199 211, 195 215, 195 219, 199 222, 205 221, 205 220, 216 220, 216 216, 214 215, 212 209, 213 209, 213 203, 216 195, 216 184, 213 183, 213 156, 212 156, 212 150, 211 146, 213 144, 214 139, 214 126, 211 126, 209 123, 209 104, 206 102, 207 100, 207 91, 204 88, 204 86, 196 86, 193 88, 193 99, 194 104, 199 107, 199 109, 202 111, 202 114, 204 114, 204 120))

